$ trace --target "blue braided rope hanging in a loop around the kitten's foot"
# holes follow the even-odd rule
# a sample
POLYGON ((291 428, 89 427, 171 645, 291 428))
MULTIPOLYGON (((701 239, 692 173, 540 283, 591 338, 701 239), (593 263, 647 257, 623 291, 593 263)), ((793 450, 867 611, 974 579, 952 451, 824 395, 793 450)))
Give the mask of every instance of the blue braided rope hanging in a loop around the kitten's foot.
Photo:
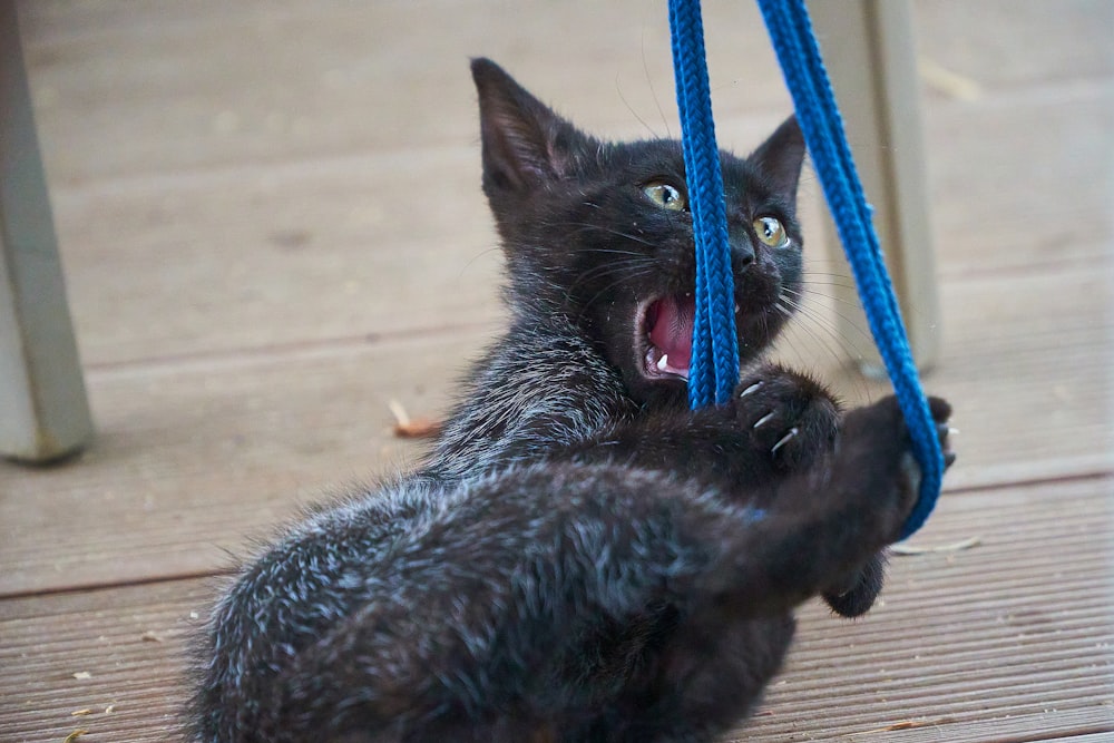
MULTIPOLYGON (((828 72, 820 58, 820 49, 812 32, 804 0, 758 0, 758 3, 781 62, 785 84, 793 97, 798 121, 812 155, 813 167, 823 187, 840 241, 843 243, 843 250, 851 264, 851 272, 854 275, 856 285, 859 287, 859 295, 870 331, 878 344, 886 370, 892 380, 898 402, 905 413, 912 439, 913 454, 920 465, 920 493, 917 505, 902 529, 901 538, 905 539, 925 524, 940 493, 944 457, 936 433, 936 422, 932 420, 928 401, 920 387, 917 366, 912 361, 912 353, 905 334, 905 325, 901 322, 901 312, 898 309, 893 287, 878 244, 878 235, 871 222, 871 208, 867 204, 862 184, 859 182, 854 162, 851 158, 842 119, 836 106, 828 72)), ((696 159, 690 155, 691 150, 707 146, 706 141, 702 140, 711 139, 711 147, 715 147, 714 135, 704 134, 711 133, 713 129, 704 43, 700 27, 700 1, 671 0, 670 23, 673 31, 674 67, 677 68, 677 105, 682 118, 688 201, 696 231, 696 317, 700 319, 702 313, 706 313, 707 322, 714 325, 723 322, 720 313, 726 303, 723 297, 714 296, 715 292, 722 291, 721 284, 709 282, 703 290, 701 289, 700 266, 702 260, 707 261, 707 258, 702 258, 701 254, 719 252, 729 256, 726 263, 706 264, 714 265, 716 268, 705 270, 723 270, 730 273, 731 264, 725 221, 717 231, 703 226, 704 219, 724 218, 719 216, 724 214, 719 156, 707 158, 705 155, 703 159, 696 159), (682 68, 685 69, 682 70, 682 68), (692 82, 694 79, 703 80, 703 86, 692 82), (703 100, 700 100, 701 97, 703 100), (709 159, 711 159, 711 168, 709 168, 709 159), (694 192, 700 194, 701 201, 693 198, 694 192), (707 208, 707 201, 720 202, 719 211, 702 214, 701 209, 707 208), (713 235, 722 234, 723 243, 702 242, 705 232, 713 235), (707 303, 707 310, 701 307, 703 303, 707 303)), ((732 336, 732 345, 734 346, 733 300, 730 300, 730 296, 729 294, 727 321, 730 321, 731 327, 727 332, 732 336)), ((690 402, 693 408, 707 404, 706 397, 703 397, 704 393, 694 393, 693 388, 706 389, 710 379, 715 380, 716 402, 722 402, 719 385, 721 374, 725 374, 725 372, 719 368, 721 354, 716 353, 715 346, 719 342, 719 334, 724 331, 719 326, 713 330, 715 334, 709 339, 707 330, 704 326, 695 325, 693 329, 693 356, 690 362, 688 381, 690 402), (697 354, 697 343, 701 344, 702 349, 705 344, 710 344, 712 346, 711 353, 702 351, 697 354), (711 371, 707 363, 709 358, 714 359, 715 363, 714 370, 711 371)), ((737 349, 734 352, 736 354, 734 375, 737 379, 737 349)), ((726 354, 724 353, 722 356, 725 358, 726 354)))

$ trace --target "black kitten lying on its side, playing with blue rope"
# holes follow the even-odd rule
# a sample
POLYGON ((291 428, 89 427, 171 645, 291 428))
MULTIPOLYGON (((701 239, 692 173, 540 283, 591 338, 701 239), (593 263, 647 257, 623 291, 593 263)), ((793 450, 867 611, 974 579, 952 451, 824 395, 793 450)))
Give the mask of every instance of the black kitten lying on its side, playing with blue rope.
POLYGON ((243 568, 198 643, 197 741, 705 741, 778 672, 797 605, 859 614, 881 587, 919 479, 897 404, 844 416, 758 361, 801 282, 795 121, 722 156, 747 371, 691 412, 680 145, 598 141, 472 75, 510 326, 414 473, 243 568))

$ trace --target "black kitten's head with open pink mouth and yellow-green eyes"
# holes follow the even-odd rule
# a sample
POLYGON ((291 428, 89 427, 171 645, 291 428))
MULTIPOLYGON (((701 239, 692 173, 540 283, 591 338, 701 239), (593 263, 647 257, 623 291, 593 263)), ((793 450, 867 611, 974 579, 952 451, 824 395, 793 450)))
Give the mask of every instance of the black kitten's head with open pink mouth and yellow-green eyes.
MULTIPOLYGON (((685 400, 696 267, 681 143, 602 143, 495 62, 473 60, 472 77, 511 309, 567 316, 635 400, 685 400)), ((794 304, 783 294, 800 285, 803 158, 792 118, 745 159, 721 153, 744 362, 781 330, 794 304)))

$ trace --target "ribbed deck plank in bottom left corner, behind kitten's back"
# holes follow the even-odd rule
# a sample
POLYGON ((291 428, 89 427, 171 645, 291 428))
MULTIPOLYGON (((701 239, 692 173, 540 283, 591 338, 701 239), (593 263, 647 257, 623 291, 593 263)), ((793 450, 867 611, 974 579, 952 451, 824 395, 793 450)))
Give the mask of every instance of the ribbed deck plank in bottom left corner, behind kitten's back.
POLYGON ((167 740, 184 698, 186 637, 205 610, 206 586, 0 603, 0 740, 61 741, 76 730, 87 730, 89 741, 167 740))

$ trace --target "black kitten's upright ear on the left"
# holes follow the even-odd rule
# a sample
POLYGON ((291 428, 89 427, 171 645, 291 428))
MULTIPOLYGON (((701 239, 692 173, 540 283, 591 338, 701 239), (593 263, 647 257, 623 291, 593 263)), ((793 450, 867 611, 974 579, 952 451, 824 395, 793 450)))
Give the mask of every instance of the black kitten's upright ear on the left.
POLYGON ((485 190, 529 190, 560 178, 589 138, 531 96, 490 59, 472 60, 480 99, 485 190))

